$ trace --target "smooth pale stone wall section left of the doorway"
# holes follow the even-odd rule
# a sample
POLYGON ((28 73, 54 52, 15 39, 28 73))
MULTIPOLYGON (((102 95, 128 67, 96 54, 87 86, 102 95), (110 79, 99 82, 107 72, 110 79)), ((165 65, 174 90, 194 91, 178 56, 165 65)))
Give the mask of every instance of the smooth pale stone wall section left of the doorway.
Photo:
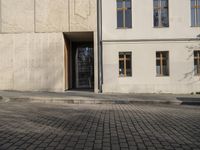
POLYGON ((64 90, 61 33, 0 35, 0 90, 64 90))

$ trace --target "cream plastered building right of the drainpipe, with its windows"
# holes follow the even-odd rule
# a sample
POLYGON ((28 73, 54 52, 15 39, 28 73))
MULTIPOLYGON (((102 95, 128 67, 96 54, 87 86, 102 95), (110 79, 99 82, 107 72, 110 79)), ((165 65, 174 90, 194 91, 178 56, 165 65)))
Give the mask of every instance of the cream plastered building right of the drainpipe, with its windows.
POLYGON ((200 91, 199 0, 102 0, 103 91, 200 91))

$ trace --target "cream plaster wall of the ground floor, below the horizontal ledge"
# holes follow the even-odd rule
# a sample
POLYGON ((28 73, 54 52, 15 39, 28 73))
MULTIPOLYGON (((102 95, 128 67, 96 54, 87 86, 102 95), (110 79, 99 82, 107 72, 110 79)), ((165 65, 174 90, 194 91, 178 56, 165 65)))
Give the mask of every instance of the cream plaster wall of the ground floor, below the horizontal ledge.
POLYGON ((105 93, 191 93, 200 91, 193 50, 199 42, 104 43, 105 93), (119 52, 132 52, 132 77, 119 77, 119 52), (170 76, 156 76, 156 51, 169 51, 170 76))

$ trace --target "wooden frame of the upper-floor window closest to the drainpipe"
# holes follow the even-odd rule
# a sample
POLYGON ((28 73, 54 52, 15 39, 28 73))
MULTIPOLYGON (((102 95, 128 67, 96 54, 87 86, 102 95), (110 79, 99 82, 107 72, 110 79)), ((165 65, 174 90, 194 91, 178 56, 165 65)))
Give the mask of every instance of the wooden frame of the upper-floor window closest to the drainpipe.
POLYGON ((129 9, 129 8, 126 8, 126 1, 127 0, 121 0, 122 1, 122 7, 121 8, 118 8, 117 6, 117 3, 118 3, 118 0, 116 0, 116 16, 117 16, 117 29, 132 29, 133 27, 133 23, 132 23, 132 0, 130 0, 130 9, 131 9, 131 17, 130 17, 130 22, 131 22, 131 26, 130 27, 127 27, 126 26, 126 10, 129 9), (122 27, 119 27, 118 26, 118 11, 123 11, 123 18, 122 18, 122 22, 123 22, 123 26, 122 27))

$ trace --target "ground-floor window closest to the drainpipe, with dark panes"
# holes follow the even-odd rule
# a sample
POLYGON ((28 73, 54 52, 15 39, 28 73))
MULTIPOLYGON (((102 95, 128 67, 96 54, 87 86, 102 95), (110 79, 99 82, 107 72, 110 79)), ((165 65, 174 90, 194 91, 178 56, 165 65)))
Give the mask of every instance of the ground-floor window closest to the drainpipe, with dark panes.
POLYGON ((130 77, 132 76, 132 65, 131 65, 131 52, 120 52, 119 53, 119 76, 130 77))

